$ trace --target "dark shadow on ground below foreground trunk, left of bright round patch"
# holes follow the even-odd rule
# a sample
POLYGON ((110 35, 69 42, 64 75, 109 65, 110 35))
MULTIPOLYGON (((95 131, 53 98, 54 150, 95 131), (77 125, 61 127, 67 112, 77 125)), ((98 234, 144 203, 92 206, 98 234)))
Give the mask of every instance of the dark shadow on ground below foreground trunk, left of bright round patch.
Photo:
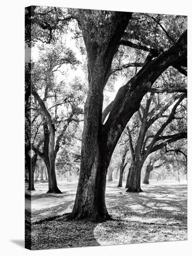
POLYGON ((59 249, 100 245, 94 236, 95 222, 65 221, 63 217, 43 225, 32 224, 31 245, 36 249, 59 249))

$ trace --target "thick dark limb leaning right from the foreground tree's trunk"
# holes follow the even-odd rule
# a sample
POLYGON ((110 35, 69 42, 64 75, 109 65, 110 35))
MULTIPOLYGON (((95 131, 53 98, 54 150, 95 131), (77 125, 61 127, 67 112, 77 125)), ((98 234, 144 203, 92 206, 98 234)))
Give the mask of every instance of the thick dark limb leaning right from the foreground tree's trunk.
POLYGON ((102 127, 109 155, 112 155, 127 122, 138 111, 143 96, 151 89, 159 75, 174 63, 186 59, 186 36, 187 31, 180 36, 175 44, 150 63, 145 64, 131 80, 119 88, 109 117, 102 127))

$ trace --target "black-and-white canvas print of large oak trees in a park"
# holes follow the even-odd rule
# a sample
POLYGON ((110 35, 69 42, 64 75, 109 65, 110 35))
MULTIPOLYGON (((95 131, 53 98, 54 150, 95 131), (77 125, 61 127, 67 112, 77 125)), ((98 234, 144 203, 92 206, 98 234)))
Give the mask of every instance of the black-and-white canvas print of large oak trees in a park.
POLYGON ((26 7, 25 51, 26 248, 186 240, 187 17, 26 7))

